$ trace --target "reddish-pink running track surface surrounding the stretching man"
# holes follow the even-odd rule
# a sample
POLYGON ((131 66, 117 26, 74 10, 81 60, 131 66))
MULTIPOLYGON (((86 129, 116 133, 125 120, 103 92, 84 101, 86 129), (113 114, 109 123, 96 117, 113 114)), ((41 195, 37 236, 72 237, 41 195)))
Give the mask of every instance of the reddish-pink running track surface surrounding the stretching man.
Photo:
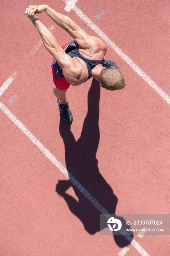
MULTIPOLYGON (((65 10, 68 2, 43 3, 100 37, 86 15, 139 69, 105 41, 126 87, 107 91, 94 79, 70 86, 70 127, 59 118, 51 56, 25 15, 42 3, 1 3, 0 255, 170 255, 169 236, 134 235, 128 244, 100 235, 102 209, 170 213, 169 1, 71 1, 79 15, 75 6, 65 10)), ((72 40, 46 14, 39 19, 61 46, 72 40)))

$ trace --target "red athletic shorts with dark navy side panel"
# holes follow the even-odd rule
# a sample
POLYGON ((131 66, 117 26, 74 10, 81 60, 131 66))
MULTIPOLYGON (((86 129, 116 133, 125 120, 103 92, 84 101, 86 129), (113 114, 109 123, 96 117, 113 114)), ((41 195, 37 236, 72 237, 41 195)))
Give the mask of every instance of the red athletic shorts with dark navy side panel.
MULTIPOLYGON (((64 46, 66 46, 66 45, 63 45, 62 48, 64 48, 64 46)), ((57 87, 57 89, 58 90, 68 89, 70 86, 70 83, 67 82, 67 80, 65 79, 65 77, 62 73, 62 70, 59 67, 57 61, 55 61, 54 57, 51 59, 51 68, 52 68, 52 72, 53 72, 53 81, 54 81, 54 84, 57 87), (53 65, 54 65, 54 67, 53 67, 53 65)))

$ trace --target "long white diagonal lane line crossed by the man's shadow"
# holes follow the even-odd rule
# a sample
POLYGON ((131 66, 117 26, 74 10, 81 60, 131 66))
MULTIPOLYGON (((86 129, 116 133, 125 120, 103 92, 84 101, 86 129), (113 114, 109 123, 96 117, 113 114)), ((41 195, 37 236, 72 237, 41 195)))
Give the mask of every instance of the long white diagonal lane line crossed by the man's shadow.
MULTIPOLYGON (((62 164, 50 153, 45 146, 43 146, 42 143, 39 142, 38 139, 35 138, 35 136, 16 118, 16 116, 7 108, 5 105, 0 102, 0 109, 9 117, 9 119, 27 136, 28 139, 31 140, 32 143, 36 145, 36 147, 39 148, 39 150, 57 167, 67 179, 70 179, 70 181, 73 183, 76 188, 93 204, 94 207, 98 211, 101 212, 101 214, 109 214, 107 210, 103 206, 101 206, 100 203, 80 184, 79 181, 77 181, 72 174, 70 174, 67 169, 62 166, 62 164)), ((142 255, 142 256, 149 256, 148 253, 134 240, 129 236, 124 236, 129 242, 131 242, 131 245, 135 247, 135 249, 142 255)))

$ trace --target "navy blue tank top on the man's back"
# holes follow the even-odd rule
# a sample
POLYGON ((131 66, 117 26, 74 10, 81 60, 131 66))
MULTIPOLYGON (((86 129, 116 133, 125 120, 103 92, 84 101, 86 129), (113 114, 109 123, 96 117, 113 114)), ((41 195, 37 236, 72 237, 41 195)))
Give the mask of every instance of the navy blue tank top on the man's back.
MULTIPOLYGON (((79 45, 77 44, 77 42, 75 40, 69 42, 69 44, 67 44, 63 50, 65 51, 65 53, 67 53, 70 57, 78 57, 80 59, 82 59, 86 65, 87 65, 87 68, 88 68, 88 74, 89 74, 89 77, 87 80, 89 80, 92 76, 92 68, 94 65, 97 65, 97 64, 102 64, 103 63, 103 60, 89 60, 89 59, 86 59, 84 58, 80 53, 79 53, 79 45)), ((86 80, 86 81, 87 81, 86 80)), ((85 82, 86 82, 85 81, 85 82)), ((84 82, 84 83, 85 83, 84 82)))

